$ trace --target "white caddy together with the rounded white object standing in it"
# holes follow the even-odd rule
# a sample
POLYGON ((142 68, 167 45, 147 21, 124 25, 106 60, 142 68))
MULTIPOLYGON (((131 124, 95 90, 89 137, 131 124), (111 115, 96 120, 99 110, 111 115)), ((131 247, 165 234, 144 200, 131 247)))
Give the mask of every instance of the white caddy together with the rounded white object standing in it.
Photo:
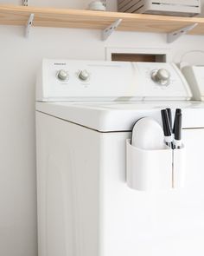
POLYGON ((180 148, 175 149, 165 145, 161 126, 155 121, 157 126, 154 127, 154 122, 150 118, 144 119, 147 120, 146 124, 143 125, 144 122, 139 120, 142 123, 141 128, 139 125, 137 126, 137 145, 133 143, 133 137, 126 140, 126 182, 128 187, 141 191, 184 187, 186 154, 183 143, 180 148), (149 131, 143 131, 145 127, 149 127, 149 130, 153 131, 151 135, 153 134, 154 138, 151 141, 149 131), (143 140, 150 142, 147 144, 143 140))

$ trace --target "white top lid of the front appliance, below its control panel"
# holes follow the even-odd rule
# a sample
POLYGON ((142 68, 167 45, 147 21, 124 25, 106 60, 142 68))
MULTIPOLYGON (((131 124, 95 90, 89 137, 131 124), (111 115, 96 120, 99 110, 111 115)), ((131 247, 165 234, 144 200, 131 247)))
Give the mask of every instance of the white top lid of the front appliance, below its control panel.
POLYGON ((39 112, 100 132, 131 131, 144 116, 162 124, 163 108, 182 108, 183 128, 204 128, 202 102, 36 102, 39 112))

